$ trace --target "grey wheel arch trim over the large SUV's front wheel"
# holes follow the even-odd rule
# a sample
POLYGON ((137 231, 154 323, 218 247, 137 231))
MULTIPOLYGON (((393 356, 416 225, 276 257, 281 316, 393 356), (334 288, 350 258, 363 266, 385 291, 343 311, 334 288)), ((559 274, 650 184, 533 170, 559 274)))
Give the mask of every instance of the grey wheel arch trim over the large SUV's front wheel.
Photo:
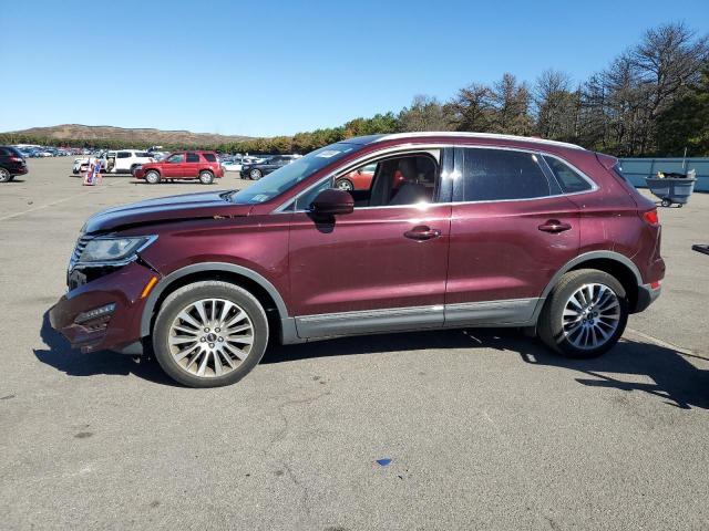
MULTIPOLYGON (((242 266, 225 262, 205 262, 187 266, 164 277, 148 295, 141 316, 141 336, 151 335, 155 316, 163 301, 175 290, 202 280, 222 280, 239 285, 251 293, 264 306, 269 324, 281 330, 288 320, 288 309, 278 290, 263 275, 242 266)), ((281 331, 282 332, 282 331, 281 331)))

